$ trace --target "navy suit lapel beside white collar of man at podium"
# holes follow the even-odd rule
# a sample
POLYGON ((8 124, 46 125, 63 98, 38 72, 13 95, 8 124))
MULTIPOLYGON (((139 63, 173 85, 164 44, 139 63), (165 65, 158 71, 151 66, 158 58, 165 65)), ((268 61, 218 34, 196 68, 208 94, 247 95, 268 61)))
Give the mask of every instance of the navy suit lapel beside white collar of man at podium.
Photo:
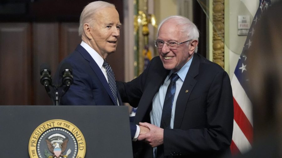
POLYGON ((95 62, 95 60, 91 57, 91 55, 81 46, 78 45, 76 47, 76 50, 78 52, 80 52, 80 54, 83 56, 84 59, 86 59, 87 61, 89 61, 89 65, 90 67, 93 69, 94 73, 97 75, 97 77, 99 78, 99 80, 101 81, 102 85, 104 86, 104 88, 107 90, 107 93, 109 94, 109 96, 112 99, 113 104, 116 104, 115 99, 112 95, 112 91, 109 87, 109 84, 107 82, 107 79, 105 78, 104 74, 102 73, 102 70, 99 68, 99 66, 97 65, 97 63, 95 62))

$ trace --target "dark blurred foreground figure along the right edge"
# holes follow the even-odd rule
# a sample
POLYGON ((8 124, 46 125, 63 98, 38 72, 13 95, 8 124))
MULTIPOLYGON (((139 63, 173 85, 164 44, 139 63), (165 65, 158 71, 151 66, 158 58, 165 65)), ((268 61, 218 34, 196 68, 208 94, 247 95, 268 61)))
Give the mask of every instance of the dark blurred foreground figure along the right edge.
POLYGON ((282 2, 273 3, 256 25, 247 54, 253 104, 253 148, 239 157, 282 157, 282 2))

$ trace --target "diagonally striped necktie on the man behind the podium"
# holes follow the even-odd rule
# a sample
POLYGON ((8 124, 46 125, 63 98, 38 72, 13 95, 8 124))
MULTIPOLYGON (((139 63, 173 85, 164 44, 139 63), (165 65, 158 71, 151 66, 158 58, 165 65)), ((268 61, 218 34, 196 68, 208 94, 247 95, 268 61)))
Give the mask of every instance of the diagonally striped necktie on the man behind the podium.
POLYGON ((117 85, 116 85, 115 74, 113 73, 112 68, 110 67, 109 63, 106 60, 104 60, 103 67, 107 71, 109 87, 112 91, 112 95, 114 96, 115 103, 116 103, 116 105, 118 105, 117 85))

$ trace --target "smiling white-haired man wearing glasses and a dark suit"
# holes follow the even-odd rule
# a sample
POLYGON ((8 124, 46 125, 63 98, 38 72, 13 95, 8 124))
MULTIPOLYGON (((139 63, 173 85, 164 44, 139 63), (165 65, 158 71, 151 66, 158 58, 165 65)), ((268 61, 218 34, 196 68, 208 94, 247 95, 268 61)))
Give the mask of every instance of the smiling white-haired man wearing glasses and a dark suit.
POLYGON ((159 24, 159 57, 128 83, 118 83, 123 102, 138 106, 136 157, 219 157, 230 154, 233 99, 228 74, 197 54, 199 31, 182 16, 159 24))

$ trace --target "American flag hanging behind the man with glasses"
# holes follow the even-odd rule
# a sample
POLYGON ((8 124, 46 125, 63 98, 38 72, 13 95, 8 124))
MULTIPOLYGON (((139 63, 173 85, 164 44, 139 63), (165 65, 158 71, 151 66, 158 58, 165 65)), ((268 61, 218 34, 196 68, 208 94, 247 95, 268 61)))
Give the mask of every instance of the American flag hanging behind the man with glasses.
POLYGON ((261 14, 264 13, 270 5, 270 0, 259 0, 259 8, 253 18, 242 54, 240 55, 231 80, 234 103, 234 124, 231 143, 232 155, 244 153, 252 148, 252 104, 248 98, 248 91, 246 88, 248 79, 245 77, 248 70, 246 61, 250 60, 247 58, 247 52, 248 49, 252 47, 252 37, 253 34, 256 33, 254 26, 260 20, 261 14))

